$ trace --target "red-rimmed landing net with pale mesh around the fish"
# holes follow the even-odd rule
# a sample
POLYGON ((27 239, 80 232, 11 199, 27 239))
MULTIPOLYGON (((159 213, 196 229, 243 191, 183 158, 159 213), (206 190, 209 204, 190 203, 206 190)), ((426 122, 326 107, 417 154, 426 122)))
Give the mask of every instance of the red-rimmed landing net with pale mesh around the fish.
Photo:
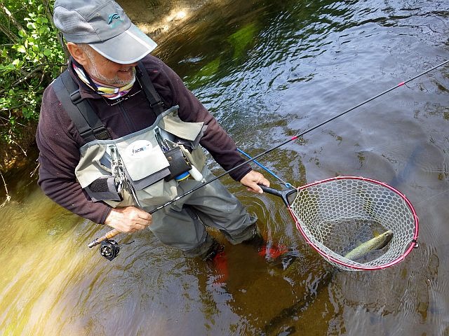
POLYGON ((417 246, 418 218, 412 204, 385 183, 338 176, 302 186, 290 212, 307 242, 340 269, 383 269, 403 260, 417 246), (362 260, 345 258, 349 251, 377 234, 393 238, 362 260))

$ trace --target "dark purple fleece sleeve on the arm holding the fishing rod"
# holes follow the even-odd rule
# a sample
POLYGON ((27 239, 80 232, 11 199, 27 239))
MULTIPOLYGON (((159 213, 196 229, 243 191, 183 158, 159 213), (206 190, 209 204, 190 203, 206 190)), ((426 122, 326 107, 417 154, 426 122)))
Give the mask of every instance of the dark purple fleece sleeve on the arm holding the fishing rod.
POLYGON ((53 87, 43 93, 36 131, 39 148, 39 186, 60 206, 95 223, 104 223, 111 207, 92 202, 76 181, 79 146, 83 141, 63 111, 53 87))

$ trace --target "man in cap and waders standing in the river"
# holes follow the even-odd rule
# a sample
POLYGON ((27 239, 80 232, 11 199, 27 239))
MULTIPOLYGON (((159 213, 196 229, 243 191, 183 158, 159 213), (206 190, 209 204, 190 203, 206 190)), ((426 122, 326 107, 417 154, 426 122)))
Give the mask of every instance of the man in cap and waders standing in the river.
MULTIPOLYGON (((201 183, 188 172, 168 176, 172 150, 182 148, 192 175, 196 169, 206 181, 213 176, 204 167, 199 144, 226 170, 244 160, 173 70, 149 55, 156 43, 117 3, 57 0, 54 21, 71 57, 68 72, 43 94, 36 132, 43 192, 75 214, 121 232, 149 228, 164 244, 192 257, 216 255, 217 244, 204 225, 221 230, 232 244, 260 241, 256 218, 219 181, 153 215, 147 212, 201 183), (92 137, 95 127, 74 117, 79 106, 95 111, 100 135, 92 137), (80 131, 85 128, 88 132, 80 131)), ((262 193, 258 183, 269 186, 249 165, 230 176, 255 193, 262 193)))

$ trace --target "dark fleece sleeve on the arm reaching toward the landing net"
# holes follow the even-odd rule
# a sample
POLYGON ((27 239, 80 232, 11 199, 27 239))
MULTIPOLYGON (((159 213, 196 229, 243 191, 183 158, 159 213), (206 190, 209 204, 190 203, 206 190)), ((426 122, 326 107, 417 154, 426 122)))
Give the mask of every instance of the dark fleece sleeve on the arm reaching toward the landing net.
MULTIPOLYGON (((222 129, 213 115, 199 102, 199 99, 190 92, 175 71, 160 62, 160 73, 150 73, 156 90, 166 105, 179 105, 178 115, 184 121, 203 122, 207 130, 200 141, 215 161, 225 170, 243 164, 245 160, 239 155, 234 140, 222 129), (170 99, 171 98, 171 99, 170 99)), ((240 181, 250 172, 248 164, 242 165, 229 173, 235 181, 240 181)))

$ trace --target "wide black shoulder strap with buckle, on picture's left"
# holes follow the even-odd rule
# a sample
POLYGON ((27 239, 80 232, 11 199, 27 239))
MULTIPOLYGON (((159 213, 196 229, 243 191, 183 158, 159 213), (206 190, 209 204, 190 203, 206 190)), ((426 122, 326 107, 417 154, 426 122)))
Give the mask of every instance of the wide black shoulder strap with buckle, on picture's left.
POLYGON ((56 78, 53 89, 84 140, 89 142, 95 139, 111 139, 93 106, 87 99, 81 98, 79 87, 70 76, 69 71, 64 71, 56 78))

